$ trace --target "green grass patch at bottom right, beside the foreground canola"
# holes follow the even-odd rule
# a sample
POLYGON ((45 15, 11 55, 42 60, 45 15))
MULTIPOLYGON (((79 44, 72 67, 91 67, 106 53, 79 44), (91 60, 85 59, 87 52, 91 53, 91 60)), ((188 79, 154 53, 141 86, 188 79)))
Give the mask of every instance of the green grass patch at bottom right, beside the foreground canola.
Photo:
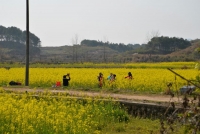
MULTIPOLYGON (((160 121, 134 118, 131 117, 128 123, 113 123, 108 124, 102 134, 160 134, 160 121)), ((165 125, 168 134, 186 134, 183 126, 174 126, 174 131, 171 131, 169 126, 165 125)))

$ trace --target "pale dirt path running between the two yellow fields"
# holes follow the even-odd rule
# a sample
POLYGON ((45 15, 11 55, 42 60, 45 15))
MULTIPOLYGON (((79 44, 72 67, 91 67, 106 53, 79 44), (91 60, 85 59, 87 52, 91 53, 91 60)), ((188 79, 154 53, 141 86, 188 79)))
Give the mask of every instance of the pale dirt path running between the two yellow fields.
MULTIPOLYGON (((4 90, 6 91, 14 91, 14 92, 44 92, 46 90, 44 89, 30 89, 30 88, 19 88, 19 87, 3 87, 4 90)), ((150 94, 150 95, 138 95, 138 94, 116 94, 116 93, 103 93, 103 92, 91 92, 91 91, 74 91, 74 90, 65 90, 62 88, 59 89, 50 89, 48 91, 51 91, 52 93, 68 93, 69 95, 72 96, 77 96, 77 97, 111 97, 111 98, 116 98, 119 100, 127 100, 127 101, 141 101, 141 102, 182 102, 181 97, 173 97, 171 98, 170 95, 155 95, 155 94, 150 94)))

